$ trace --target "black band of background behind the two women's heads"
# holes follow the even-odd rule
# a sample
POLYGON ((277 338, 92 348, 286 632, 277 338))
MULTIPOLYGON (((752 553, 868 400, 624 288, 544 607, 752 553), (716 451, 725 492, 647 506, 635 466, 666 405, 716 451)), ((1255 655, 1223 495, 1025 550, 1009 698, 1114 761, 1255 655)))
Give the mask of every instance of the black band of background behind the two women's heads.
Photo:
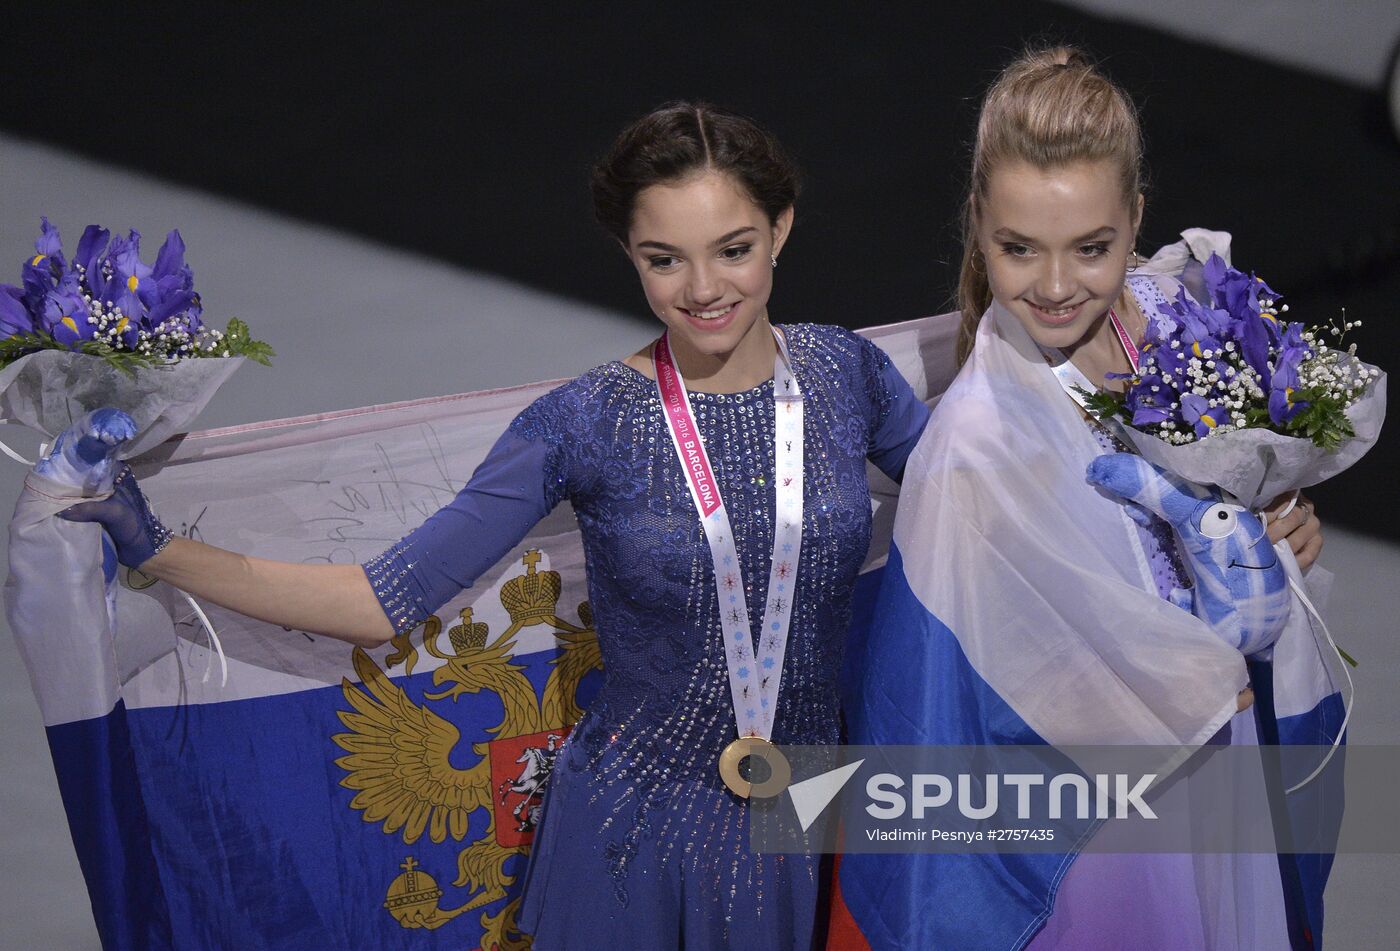
MULTIPOLYGON (((1345 307, 1365 357, 1400 354, 1400 144, 1380 94, 1051 3, 48 10, 7 24, 4 132, 638 321, 587 195, 629 119, 704 98, 770 126, 808 179, 774 315, 902 321, 951 310, 981 90, 1026 41, 1081 43, 1142 108, 1142 251, 1231 231, 1291 317, 1345 307)), ((1397 443, 1310 493, 1330 522, 1400 538, 1397 443)))

